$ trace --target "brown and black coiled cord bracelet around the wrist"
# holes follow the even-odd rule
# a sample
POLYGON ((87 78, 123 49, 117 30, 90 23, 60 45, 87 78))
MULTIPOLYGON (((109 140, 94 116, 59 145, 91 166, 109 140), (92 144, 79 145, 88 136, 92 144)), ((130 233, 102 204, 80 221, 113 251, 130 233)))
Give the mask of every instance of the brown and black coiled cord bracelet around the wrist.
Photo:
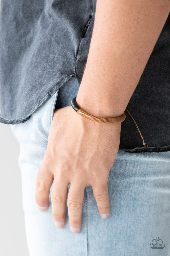
POLYGON ((120 116, 120 117, 98 117, 92 114, 87 113, 86 111, 82 110, 76 102, 76 97, 74 97, 71 100, 71 106, 73 107, 73 109, 81 116, 88 118, 90 120, 99 122, 99 123, 121 123, 125 120, 126 118, 126 114, 125 112, 120 116))

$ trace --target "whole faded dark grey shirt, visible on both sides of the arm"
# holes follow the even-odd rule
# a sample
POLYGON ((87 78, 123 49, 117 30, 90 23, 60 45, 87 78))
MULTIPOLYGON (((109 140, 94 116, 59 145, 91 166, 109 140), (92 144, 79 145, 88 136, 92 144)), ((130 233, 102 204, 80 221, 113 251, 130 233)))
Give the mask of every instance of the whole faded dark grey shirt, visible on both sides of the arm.
MULTIPOLYGON (((96 0, 1 0, 0 122, 23 123, 71 77, 81 83, 95 9, 96 0)), ((126 114, 120 149, 170 150, 170 14, 127 109, 149 148, 126 114)))

